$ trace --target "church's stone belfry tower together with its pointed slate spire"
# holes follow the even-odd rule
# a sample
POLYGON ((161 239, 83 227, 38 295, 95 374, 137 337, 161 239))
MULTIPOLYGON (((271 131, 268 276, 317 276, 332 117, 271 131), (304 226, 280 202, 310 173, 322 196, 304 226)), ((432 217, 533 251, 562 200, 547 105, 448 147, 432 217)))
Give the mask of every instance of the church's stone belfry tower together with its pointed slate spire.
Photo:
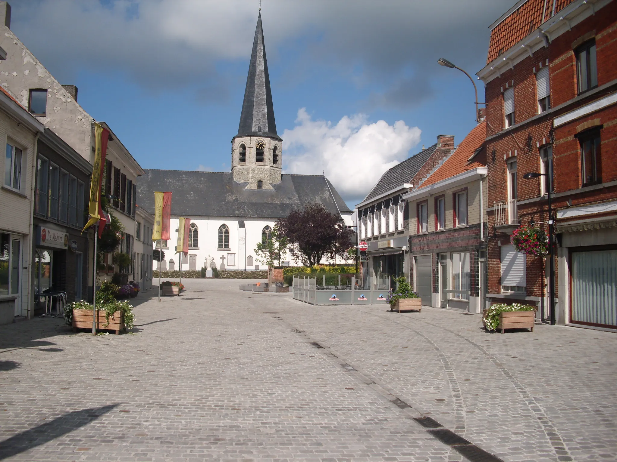
POLYGON ((273 189, 271 185, 281 182, 282 153, 283 139, 276 134, 260 11, 238 134, 231 140, 234 181, 247 183, 247 189, 273 189))

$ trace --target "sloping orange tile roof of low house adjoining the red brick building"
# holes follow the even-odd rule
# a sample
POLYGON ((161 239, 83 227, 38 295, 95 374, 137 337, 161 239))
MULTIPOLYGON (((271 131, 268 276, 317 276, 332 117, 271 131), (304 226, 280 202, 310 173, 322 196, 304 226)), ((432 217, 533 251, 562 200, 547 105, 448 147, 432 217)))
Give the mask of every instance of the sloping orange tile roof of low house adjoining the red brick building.
POLYGON ((448 160, 424 180, 423 184, 421 184, 418 189, 474 168, 486 167, 486 155, 477 155, 471 161, 468 161, 473 153, 484 143, 485 138, 486 122, 481 122, 467 134, 448 160))

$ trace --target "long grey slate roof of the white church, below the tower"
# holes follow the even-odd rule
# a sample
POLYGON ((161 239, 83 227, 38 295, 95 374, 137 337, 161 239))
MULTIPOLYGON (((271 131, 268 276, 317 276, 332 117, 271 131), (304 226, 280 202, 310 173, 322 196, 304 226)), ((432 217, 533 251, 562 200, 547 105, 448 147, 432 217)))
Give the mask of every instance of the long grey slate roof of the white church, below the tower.
POLYGON ((331 213, 352 211, 325 176, 283 174, 274 190, 245 189, 231 172, 146 169, 138 178, 138 205, 154 213, 154 192, 171 191, 172 215, 278 219, 309 203, 331 213))

